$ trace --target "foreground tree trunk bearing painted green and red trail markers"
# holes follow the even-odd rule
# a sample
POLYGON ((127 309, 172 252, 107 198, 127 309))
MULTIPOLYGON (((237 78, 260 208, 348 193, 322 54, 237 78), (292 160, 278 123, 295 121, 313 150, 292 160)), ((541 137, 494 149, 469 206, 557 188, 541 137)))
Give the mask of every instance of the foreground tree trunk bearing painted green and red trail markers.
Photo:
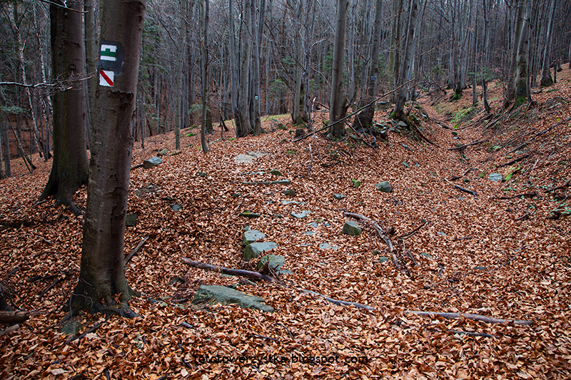
POLYGON ((113 86, 97 88, 81 269, 71 295, 72 315, 86 309, 133 316, 128 309, 132 291, 125 277, 123 245, 145 8, 144 0, 101 0, 101 41, 123 48, 124 61, 113 86))

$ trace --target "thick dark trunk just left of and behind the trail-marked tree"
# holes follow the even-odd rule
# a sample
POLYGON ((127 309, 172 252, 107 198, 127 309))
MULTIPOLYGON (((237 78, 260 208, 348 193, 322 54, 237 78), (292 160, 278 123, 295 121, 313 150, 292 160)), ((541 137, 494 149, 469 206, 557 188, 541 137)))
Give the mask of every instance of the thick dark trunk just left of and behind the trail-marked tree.
MULTIPOLYGON (((50 6, 52 76, 78 79, 85 75, 83 6, 62 1, 50 6)), ((73 196, 86 185, 89 171, 86 152, 86 81, 77 81, 73 88, 56 93, 54 107, 54 159, 46 188, 39 200, 54 197, 56 206, 66 205, 74 214, 80 211, 73 196)))

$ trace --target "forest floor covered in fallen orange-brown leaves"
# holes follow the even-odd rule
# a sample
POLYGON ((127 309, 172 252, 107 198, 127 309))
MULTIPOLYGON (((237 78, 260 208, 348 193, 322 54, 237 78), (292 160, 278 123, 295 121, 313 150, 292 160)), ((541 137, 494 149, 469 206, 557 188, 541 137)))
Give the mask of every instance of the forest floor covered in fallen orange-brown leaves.
MULTIPOLYGON (((236 140, 232 133, 226 140, 211 136, 203 155, 198 137, 186 136, 196 130, 184 130, 181 153, 131 171, 128 211, 140 216, 127 227, 126 252, 148 237, 126 269, 141 292, 131 301, 141 317, 76 317, 81 332, 103 323, 73 342, 66 342, 60 321, 79 274, 81 217, 50 202, 32 207, 51 161, 36 159, 34 175, 14 161, 22 174, 0 181, 0 281, 15 307, 36 314, 0 337, 0 378, 569 379, 571 70, 564 68, 557 84, 533 94, 531 107, 496 123, 485 120, 481 106, 460 120, 470 90, 454 103, 423 98, 423 110, 413 113, 436 145, 392 132, 375 150, 321 134, 293 142, 295 127, 282 117, 285 130, 236 140), (248 152, 266 155, 236 162, 248 152), (492 173, 504 180, 493 182, 492 173), (243 184, 284 178, 291 184, 243 184), (381 181, 393 192, 378 191, 381 181), (284 195, 286 188, 295 196, 284 195), (239 216, 245 210, 262 217, 239 216), (310 214, 290 215, 302 210, 310 214), (370 217, 385 231, 392 227, 398 267, 385 260, 388 247, 366 222, 355 220, 361 235, 343 235, 350 220, 343 212, 370 217), (283 269, 293 272, 281 276, 283 285, 238 287, 275 312, 191 305, 201 284, 232 285, 238 278, 181 258, 254 270, 242 260, 247 225, 277 243, 270 253, 285 257, 283 269), (301 289, 374 310, 338 306, 301 289), (408 311, 460 314, 444 319, 408 311), (492 324, 464 313, 510 321, 492 324)), ((501 88, 490 87, 492 112, 500 115, 501 88)), ((388 120, 388 112, 375 118, 388 120)), ((316 127, 319 117, 328 115, 316 112, 316 127)), ((266 130, 276 127, 263 120, 266 130)), ((136 145, 133 165, 161 148, 172 153, 174 138, 136 145)), ((85 199, 82 189, 76 203, 85 207, 85 199)))

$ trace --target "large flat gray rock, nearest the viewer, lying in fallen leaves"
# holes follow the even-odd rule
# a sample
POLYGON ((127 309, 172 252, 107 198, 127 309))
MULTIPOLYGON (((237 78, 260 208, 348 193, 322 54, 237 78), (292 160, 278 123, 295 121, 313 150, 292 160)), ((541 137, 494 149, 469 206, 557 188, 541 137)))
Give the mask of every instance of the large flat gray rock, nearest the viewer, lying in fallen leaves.
POLYGON ((273 312, 273 307, 266 305, 266 301, 261 297, 218 285, 201 285, 196 291, 196 294, 194 294, 192 303, 197 304, 208 298, 212 298, 221 304, 237 304, 240 307, 246 307, 248 309, 273 312))

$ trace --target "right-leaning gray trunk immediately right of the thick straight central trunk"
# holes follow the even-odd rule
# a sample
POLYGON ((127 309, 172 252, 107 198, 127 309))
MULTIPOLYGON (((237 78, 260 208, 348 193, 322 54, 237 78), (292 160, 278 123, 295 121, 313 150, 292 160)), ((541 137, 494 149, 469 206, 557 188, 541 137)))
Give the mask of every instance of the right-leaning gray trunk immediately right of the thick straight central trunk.
MULTIPOLYGON (((370 50, 370 68, 369 68, 369 81, 367 84, 366 96, 364 97, 364 104, 372 102, 377 93, 377 83, 379 75, 379 48, 380 48, 380 32, 381 22, 383 17, 383 0, 376 0, 375 5, 375 21, 373 25, 373 46, 370 50)), ((373 117, 375 116, 375 104, 371 104, 363 111, 361 111, 355 121, 353 128, 371 128, 373 126, 373 117)))

